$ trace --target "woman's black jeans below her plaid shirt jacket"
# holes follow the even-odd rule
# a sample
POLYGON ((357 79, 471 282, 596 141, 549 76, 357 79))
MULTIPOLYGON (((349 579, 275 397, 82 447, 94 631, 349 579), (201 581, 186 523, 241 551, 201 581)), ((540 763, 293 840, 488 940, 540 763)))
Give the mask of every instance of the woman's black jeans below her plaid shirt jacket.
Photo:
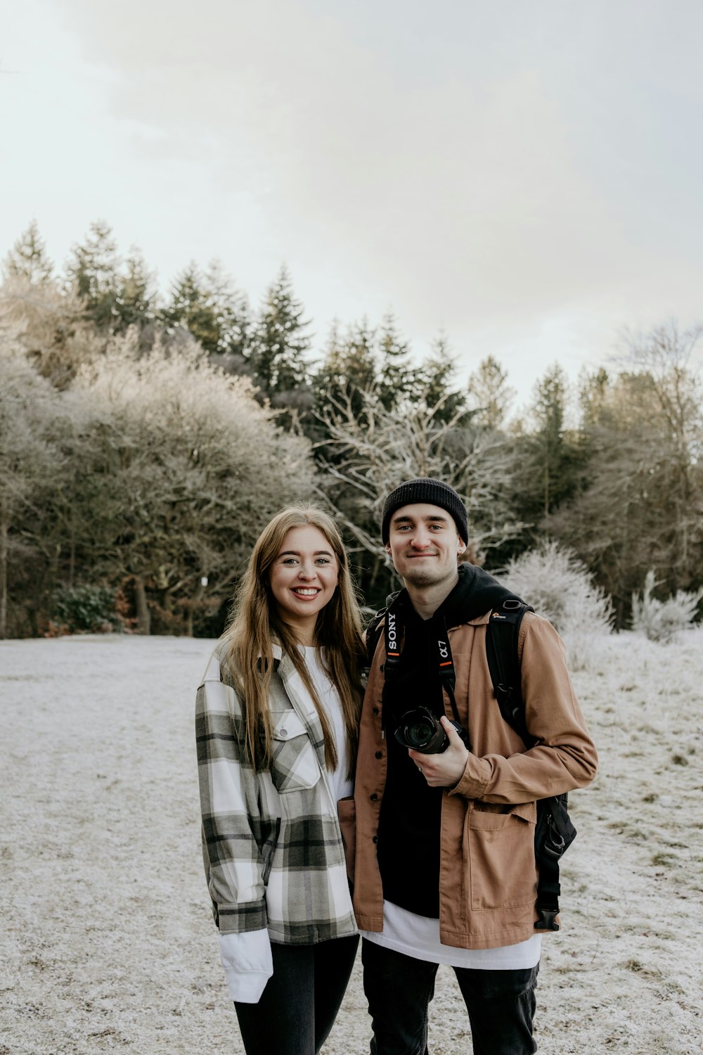
POLYGON ((237 1003, 247 1055, 317 1055, 337 1017, 358 936, 271 945, 273 975, 258 1003, 237 1003))

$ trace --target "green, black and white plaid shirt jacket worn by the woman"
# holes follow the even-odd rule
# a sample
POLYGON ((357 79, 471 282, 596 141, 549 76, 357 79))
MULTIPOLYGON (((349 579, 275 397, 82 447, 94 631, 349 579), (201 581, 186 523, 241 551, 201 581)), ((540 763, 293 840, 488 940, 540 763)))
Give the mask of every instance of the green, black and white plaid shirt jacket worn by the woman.
POLYGON ((275 656, 270 770, 254 772, 218 650, 198 688, 203 863, 222 934, 268 927, 274 942, 308 945, 356 923, 317 711, 288 656, 275 656))

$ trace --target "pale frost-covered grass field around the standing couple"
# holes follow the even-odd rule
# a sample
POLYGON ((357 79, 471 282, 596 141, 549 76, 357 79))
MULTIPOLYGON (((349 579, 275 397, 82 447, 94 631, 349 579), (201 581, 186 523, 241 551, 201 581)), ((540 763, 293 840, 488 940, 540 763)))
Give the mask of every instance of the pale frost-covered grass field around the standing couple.
MULTIPOLYGON (((200 860, 193 699, 212 642, 0 642, 0 1055, 243 1051, 200 860)), ((600 645, 577 688, 601 753, 571 798, 549 1055, 703 1050, 703 631, 600 645)), ((368 1052, 358 962, 326 1055, 368 1052)), ((432 1055, 470 1052, 442 967, 432 1055)))

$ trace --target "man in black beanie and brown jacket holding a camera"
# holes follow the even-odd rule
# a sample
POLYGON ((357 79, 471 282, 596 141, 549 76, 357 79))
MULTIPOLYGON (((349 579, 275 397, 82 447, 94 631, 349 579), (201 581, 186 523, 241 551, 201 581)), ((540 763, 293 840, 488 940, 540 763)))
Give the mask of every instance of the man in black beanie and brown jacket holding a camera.
POLYGON ((382 536, 405 589, 386 615, 369 673, 354 795, 354 909, 371 1052, 427 1052, 428 1005, 437 964, 447 963, 467 1005, 474 1055, 531 1053, 541 942, 536 800, 590 783, 595 749, 562 641, 533 613, 523 617, 519 651, 534 746, 527 750, 503 720, 486 628, 491 611, 514 595, 482 569, 458 567, 468 523, 455 491, 428 478, 401 484, 386 500, 382 536), (399 742, 398 731, 407 741, 404 715, 418 706, 436 714, 445 750, 399 742))

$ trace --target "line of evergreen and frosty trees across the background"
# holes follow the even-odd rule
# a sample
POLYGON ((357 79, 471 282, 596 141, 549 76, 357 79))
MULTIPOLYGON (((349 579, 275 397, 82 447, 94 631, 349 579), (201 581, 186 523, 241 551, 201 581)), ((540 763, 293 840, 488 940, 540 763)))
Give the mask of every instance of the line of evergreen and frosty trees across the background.
POLYGON ((316 348, 285 268, 257 309, 216 262, 161 296, 106 224, 59 273, 33 223, 0 288, 0 636, 215 635, 266 520, 311 499, 375 608, 385 495, 425 475, 465 497, 470 559, 552 540, 626 626, 649 572, 662 597, 703 584, 699 337, 629 334, 575 386, 554 365, 515 416, 495 359, 460 382, 445 334, 418 362, 390 314, 316 348))

